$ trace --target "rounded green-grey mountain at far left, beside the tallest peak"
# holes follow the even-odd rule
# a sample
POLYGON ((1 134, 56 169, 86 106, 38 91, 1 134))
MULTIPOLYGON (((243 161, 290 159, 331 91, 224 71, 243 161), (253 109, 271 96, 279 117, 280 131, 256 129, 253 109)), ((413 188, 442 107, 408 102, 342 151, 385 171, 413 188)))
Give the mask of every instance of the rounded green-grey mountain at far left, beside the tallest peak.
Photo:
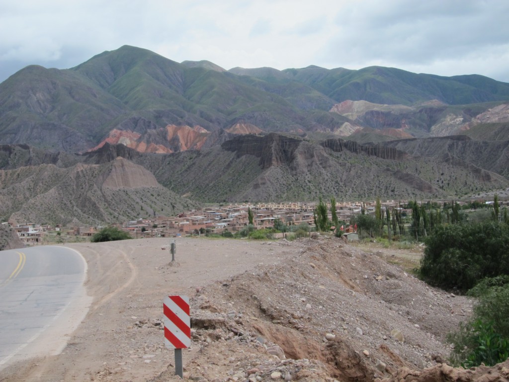
POLYGON ((97 142, 123 113, 119 99, 72 71, 29 66, 0 84, 2 143, 72 152, 97 142))

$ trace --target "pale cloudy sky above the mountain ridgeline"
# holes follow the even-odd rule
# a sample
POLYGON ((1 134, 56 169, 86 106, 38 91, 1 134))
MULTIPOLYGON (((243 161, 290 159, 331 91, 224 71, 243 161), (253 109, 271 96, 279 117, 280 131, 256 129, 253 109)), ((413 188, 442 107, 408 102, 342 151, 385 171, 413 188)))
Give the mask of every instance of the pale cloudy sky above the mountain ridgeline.
POLYGON ((509 82, 508 0, 0 0, 0 81, 133 45, 182 62, 509 82))

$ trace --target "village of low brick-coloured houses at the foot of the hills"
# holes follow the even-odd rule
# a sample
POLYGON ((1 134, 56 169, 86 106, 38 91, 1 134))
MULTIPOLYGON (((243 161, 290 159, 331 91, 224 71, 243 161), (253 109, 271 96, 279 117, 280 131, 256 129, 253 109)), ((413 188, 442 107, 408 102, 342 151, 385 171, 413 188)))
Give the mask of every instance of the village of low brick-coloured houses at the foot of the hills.
MULTIPOLYGON (((443 202, 437 202, 443 205, 443 202)), ((467 202, 459 202, 464 205, 467 202)), ((493 202, 485 202, 487 205, 493 202)), ((501 202, 507 204, 507 202, 501 202)), ((388 208, 401 209, 404 216, 411 216, 411 209, 402 209, 401 202, 387 200, 381 202, 382 212, 388 208)), ((350 226, 353 216, 360 214, 362 207, 367 214, 375 214, 375 201, 370 202, 338 202, 336 203, 336 214, 338 221, 346 222, 344 232, 348 235, 353 233, 354 228, 350 226)), ((315 227, 313 211, 316 202, 288 202, 288 203, 256 203, 256 204, 230 204, 215 207, 204 207, 179 213, 177 216, 156 216, 154 218, 140 217, 123 223, 111 224, 130 234, 132 238, 145 237, 181 237, 203 234, 222 234, 229 231, 233 234, 248 225, 248 210, 253 213, 254 229, 272 228, 274 221, 279 220, 287 226, 307 224, 310 230, 315 227)), ((328 205, 330 209, 330 204, 328 205)), ((328 211, 329 217, 331 215, 328 211)), ((2 223, 9 224, 9 223, 2 223)), ((12 225, 20 240, 25 245, 38 245, 52 240, 43 240, 45 235, 83 238, 92 237, 96 232, 104 228, 103 225, 63 227, 62 225, 50 226, 36 223, 22 223, 12 225)), ((349 237, 349 240, 356 239, 356 235, 349 237)), ((59 241, 59 240, 53 240, 59 241)))

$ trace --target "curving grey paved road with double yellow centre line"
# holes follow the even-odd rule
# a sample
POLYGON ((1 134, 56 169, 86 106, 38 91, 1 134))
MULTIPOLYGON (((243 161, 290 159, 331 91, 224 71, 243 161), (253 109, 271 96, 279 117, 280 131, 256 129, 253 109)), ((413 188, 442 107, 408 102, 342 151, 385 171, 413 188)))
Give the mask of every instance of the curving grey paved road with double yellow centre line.
POLYGON ((62 350, 65 337, 86 314, 86 270, 81 255, 69 248, 0 252, 0 370, 62 350))

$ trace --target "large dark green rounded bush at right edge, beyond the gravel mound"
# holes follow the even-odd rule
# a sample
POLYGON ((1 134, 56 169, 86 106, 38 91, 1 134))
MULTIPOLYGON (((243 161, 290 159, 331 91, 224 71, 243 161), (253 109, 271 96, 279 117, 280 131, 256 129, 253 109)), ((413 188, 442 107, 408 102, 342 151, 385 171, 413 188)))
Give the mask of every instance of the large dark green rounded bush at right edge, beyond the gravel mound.
POLYGON ((509 226, 496 222, 438 226, 425 238, 419 276, 467 291, 486 277, 509 274, 509 226))

